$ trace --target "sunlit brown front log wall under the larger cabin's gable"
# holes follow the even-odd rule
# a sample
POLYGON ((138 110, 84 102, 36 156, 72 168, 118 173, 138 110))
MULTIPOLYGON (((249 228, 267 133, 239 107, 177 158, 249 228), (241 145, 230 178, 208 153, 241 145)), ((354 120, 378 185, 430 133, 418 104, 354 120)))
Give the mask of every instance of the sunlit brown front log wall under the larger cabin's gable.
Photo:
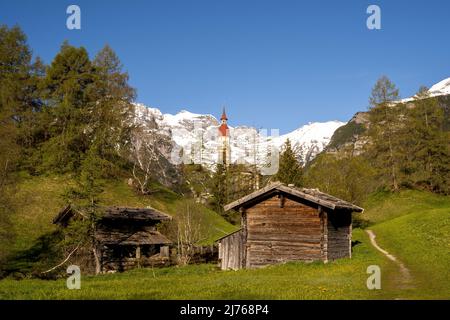
POLYGON ((323 260, 319 210, 273 196, 245 210, 246 267, 285 261, 323 260))

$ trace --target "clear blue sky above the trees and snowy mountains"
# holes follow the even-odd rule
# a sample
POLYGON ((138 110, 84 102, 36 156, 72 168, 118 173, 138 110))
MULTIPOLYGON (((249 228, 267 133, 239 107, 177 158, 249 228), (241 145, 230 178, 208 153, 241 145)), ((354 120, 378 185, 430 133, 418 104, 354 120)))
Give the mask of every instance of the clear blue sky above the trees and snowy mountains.
POLYGON ((18 24, 47 63, 66 39, 91 56, 108 43, 137 101, 163 112, 225 105, 232 125, 281 133, 347 121, 383 74, 402 97, 450 77, 447 0, 2 0, 0 23, 18 24), (81 30, 66 28, 70 4, 81 30), (370 4, 382 30, 366 27, 370 4))

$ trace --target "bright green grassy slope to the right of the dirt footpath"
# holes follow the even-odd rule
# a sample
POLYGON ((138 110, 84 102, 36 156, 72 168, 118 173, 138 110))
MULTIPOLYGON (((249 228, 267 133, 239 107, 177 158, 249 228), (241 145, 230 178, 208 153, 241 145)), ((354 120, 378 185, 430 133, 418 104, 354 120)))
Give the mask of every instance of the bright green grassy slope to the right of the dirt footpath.
POLYGON ((366 218, 378 244, 411 271, 410 298, 450 298, 450 197, 427 192, 378 193, 366 218))

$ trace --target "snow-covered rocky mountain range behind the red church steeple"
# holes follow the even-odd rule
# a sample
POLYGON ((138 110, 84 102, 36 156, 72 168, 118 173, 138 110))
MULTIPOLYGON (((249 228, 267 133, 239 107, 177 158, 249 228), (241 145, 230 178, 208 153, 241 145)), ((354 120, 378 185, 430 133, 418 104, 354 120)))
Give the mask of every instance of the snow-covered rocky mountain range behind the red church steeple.
MULTIPOLYGON (((158 134, 160 139, 171 142, 172 148, 162 150, 174 164, 181 162, 201 163, 212 166, 218 159, 219 121, 209 114, 196 114, 186 110, 163 114, 159 109, 136 104, 136 123, 146 132, 158 134)), ((232 121, 230 121, 232 122, 232 121)), ((309 123, 288 134, 279 136, 274 130, 257 130, 248 126, 229 126, 231 161, 264 165, 268 154, 280 150, 287 139, 291 141, 299 161, 307 163, 329 143, 337 128, 345 125, 340 121, 309 123)))

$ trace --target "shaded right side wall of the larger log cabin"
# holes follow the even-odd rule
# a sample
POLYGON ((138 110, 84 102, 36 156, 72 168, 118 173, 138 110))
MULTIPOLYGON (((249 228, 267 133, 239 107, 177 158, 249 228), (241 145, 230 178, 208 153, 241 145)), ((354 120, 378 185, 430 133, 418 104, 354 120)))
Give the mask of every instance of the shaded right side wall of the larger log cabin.
POLYGON ((328 260, 351 258, 352 215, 348 211, 328 212, 328 260))

